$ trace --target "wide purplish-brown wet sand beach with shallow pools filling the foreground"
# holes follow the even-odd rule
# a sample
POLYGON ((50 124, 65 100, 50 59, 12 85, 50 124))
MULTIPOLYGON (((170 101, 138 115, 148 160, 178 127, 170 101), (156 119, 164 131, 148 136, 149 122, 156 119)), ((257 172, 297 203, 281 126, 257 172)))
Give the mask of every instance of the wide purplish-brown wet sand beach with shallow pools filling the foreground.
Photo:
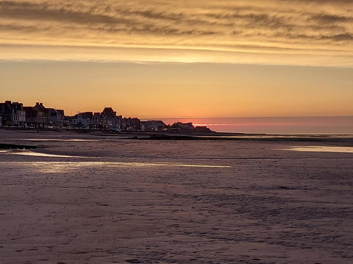
POLYGON ((0 142, 0 263, 353 262, 349 141, 0 142))

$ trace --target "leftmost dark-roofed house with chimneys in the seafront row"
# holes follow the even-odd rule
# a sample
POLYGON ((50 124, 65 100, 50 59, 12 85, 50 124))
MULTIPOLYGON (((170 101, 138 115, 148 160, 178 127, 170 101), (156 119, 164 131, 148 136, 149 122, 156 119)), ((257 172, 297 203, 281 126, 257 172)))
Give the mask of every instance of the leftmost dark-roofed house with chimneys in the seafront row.
POLYGON ((0 103, 0 113, 4 126, 26 126, 26 112, 23 103, 11 102, 10 100, 0 103))

